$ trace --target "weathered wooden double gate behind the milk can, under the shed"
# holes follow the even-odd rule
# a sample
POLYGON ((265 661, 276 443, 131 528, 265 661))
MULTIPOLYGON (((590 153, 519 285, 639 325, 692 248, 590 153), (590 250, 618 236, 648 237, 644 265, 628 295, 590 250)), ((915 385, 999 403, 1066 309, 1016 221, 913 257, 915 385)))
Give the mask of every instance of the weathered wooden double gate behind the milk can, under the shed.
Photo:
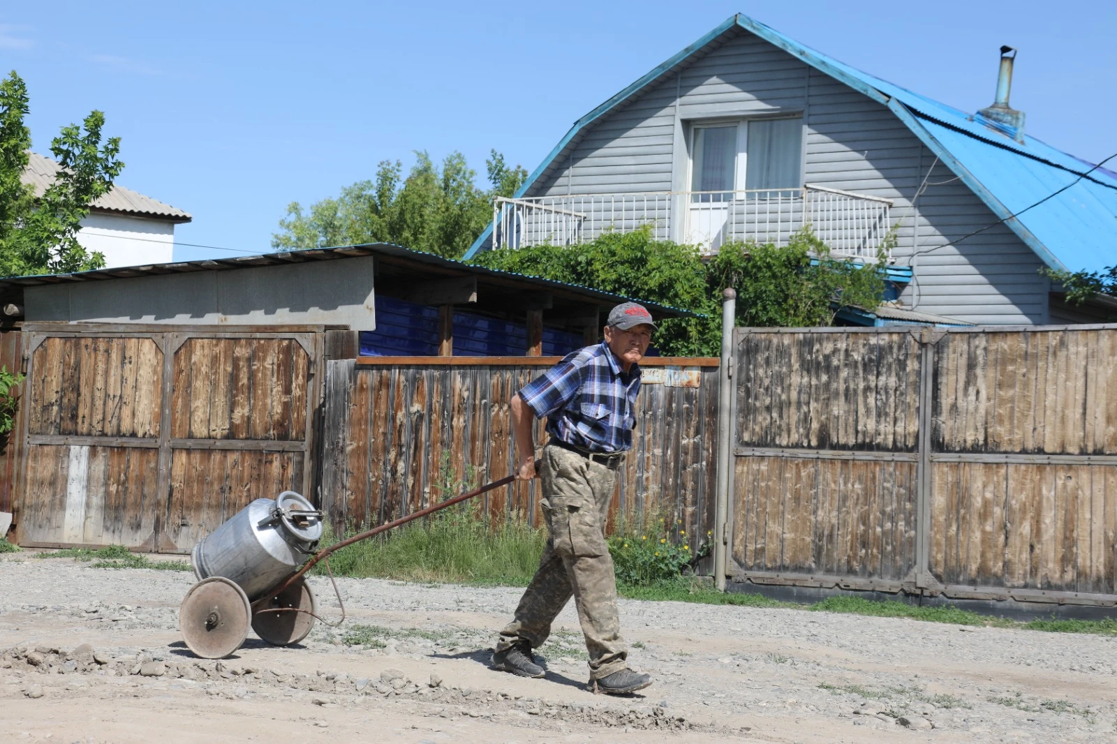
POLYGON ((322 330, 26 326, 20 543, 184 553, 308 493, 322 330))

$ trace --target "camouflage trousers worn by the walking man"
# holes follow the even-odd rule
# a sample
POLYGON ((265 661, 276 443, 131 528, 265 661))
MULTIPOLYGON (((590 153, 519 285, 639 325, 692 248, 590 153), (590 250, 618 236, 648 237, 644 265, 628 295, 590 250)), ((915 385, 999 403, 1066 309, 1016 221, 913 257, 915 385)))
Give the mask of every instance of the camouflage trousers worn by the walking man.
POLYGON ((547 544, 496 650, 521 639, 532 648, 542 646, 551 623, 573 597, 590 654, 590 679, 601 679, 623 669, 628 658, 617 614, 617 576, 605 543, 605 515, 617 473, 548 445, 543 448, 540 476, 547 544))

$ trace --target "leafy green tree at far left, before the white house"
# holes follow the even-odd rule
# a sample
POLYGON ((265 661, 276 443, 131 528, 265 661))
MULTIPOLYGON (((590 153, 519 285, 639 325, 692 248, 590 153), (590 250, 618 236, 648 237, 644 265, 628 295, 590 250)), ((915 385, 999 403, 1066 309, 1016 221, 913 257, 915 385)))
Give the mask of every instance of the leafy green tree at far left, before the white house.
POLYGON ((102 143, 105 115, 92 112, 80 126, 64 126, 50 143, 60 169, 38 198, 20 175, 27 168, 31 132, 23 123, 27 85, 13 70, 0 82, 0 276, 84 271, 105 257, 77 241, 89 206, 113 188, 124 168, 121 139, 102 143))

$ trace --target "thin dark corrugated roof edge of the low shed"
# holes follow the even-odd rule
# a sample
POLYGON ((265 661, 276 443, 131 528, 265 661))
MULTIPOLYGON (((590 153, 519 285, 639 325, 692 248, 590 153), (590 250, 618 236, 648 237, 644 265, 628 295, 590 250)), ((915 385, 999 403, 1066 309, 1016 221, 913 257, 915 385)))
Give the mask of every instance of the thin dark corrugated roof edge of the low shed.
POLYGON ((252 268, 257 266, 278 266, 288 264, 306 264, 311 261, 333 260, 340 258, 354 258, 360 256, 385 256, 401 261, 410 261, 417 265, 428 265, 440 269, 452 269, 476 274, 478 278, 490 278, 495 283, 527 285, 526 288, 538 287, 540 289, 562 290, 567 295, 577 295, 586 299, 595 299, 602 305, 618 305, 623 302, 638 302, 648 309, 666 315, 668 317, 704 317, 698 313, 693 313, 670 305, 660 305, 638 297, 624 297, 609 292, 601 292, 591 287, 583 287, 565 282, 543 279, 514 271, 499 271, 484 266, 474 266, 465 261, 452 258, 443 258, 435 254, 420 250, 411 250, 403 246, 390 242, 373 242, 359 246, 338 246, 334 248, 312 248, 307 250, 289 250, 275 254, 260 254, 258 256, 244 256, 237 258, 214 258, 197 261, 180 261, 171 264, 151 264, 147 266, 125 266, 117 268, 96 269, 94 271, 77 271, 74 274, 42 274, 34 276, 18 276, 0 279, 0 286, 31 287, 47 284, 66 284, 74 282, 105 282, 109 279, 126 279, 140 276, 159 276, 162 274, 189 274, 192 271, 206 270, 228 270, 239 268, 252 268))

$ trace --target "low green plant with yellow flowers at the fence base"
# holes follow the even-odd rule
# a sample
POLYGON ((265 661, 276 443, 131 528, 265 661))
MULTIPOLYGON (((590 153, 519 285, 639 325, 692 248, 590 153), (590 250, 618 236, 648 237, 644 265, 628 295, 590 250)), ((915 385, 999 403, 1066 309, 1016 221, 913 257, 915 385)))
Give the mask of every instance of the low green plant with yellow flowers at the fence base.
POLYGON ((643 525, 622 523, 609 537, 617 581, 648 586, 680 578, 684 569, 708 552, 708 546, 691 549, 681 524, 663 518, 643 525))

